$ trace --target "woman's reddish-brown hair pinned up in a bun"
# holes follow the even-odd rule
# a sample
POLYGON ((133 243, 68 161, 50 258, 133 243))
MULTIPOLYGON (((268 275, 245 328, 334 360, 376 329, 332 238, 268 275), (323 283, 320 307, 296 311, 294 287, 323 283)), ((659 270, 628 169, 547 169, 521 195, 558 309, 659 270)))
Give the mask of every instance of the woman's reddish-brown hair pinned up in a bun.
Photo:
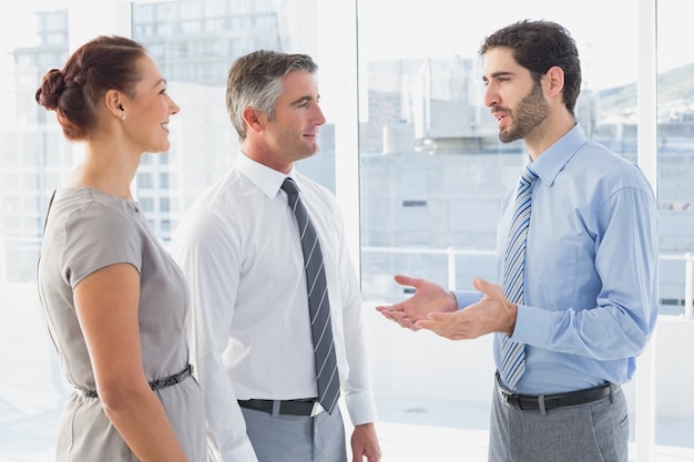
POLYGON ((136 61, 145 53, 144 47, 131 39, 98 37, 75 50, 62 70, 43 75, 37 102, 55 111, 68 140, 84 140, 96 125, 96 107, 109 90, 134 96, 141 79, 136 61))

